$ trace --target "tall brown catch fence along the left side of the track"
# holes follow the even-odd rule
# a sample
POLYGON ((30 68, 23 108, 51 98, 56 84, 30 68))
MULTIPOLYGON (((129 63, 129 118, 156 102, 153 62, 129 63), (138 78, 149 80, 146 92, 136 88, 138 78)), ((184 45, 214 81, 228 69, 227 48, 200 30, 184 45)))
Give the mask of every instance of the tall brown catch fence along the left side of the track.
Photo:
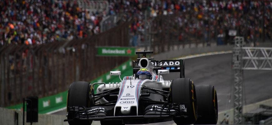
POLYGON ((27 96, 63 92, 73 81, 91 81, 127 61, 128 57, 98 57, 95 47, 128 46, 130 23, 83 39, 1 47, 0 107, 21 103, 27 96))

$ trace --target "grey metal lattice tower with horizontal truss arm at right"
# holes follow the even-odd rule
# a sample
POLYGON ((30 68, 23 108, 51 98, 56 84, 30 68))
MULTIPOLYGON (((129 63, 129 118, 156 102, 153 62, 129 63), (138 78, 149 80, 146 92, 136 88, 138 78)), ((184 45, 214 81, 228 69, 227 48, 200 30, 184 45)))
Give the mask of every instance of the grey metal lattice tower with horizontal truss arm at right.
POLYGON ((243 70, 272 70, 272 47, 243 47, 244 37, 234 37, 234 124, 243 122, 243 70))

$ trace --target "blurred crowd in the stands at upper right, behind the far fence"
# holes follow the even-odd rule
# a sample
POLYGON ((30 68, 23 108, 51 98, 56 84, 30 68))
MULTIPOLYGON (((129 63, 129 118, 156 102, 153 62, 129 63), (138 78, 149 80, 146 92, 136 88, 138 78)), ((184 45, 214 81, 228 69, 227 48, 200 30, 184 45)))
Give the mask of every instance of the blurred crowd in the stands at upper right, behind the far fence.
MULTIPOLYGON (((159 15, 175 16, 174 25, 179 30, 177 40, 184 38, 204 39, 207 44, 210 40, 219 40, 220 44, 231 43, 229 30, 237 30, 237 35, 250 36, 251 39, 260 40, 261 37, 271 40, 271 7, 268 0, 258 1, 217 1, 217 0, 110 0, 109 14, 115 15, 123 12, 123 17, 133 15, 134 21, 130 32, 142 37, 145 34, 145 11, 149 17, 159 15), (247 32, 248 31, 248 32, 247 32), (265 32, 262 36, 262 32, 265 32)), ((149 19, 147 19, 149 20, 149 19)), ((167 22, 162 22, 167 26, 167 22)), ((168 24, 167 24, 168 23, 168 24)), ((171 24, 170 24, 171 25, 171 24)), ((154 26, 156 27, 156 26, 154 26)), ((156 28, 154 30, 157 30, 156 28)), ((133 35, 132 35, 133 36, 133 35)), ((139 42, 144 42, 140 39, 139 42)))

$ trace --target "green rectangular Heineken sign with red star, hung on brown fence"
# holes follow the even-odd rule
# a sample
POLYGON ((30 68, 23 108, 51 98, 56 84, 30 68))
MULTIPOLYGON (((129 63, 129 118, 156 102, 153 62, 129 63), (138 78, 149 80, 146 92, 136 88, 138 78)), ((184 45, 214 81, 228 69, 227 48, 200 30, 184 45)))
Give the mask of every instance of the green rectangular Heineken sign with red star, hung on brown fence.
POLYGON ((134 47, 97 47, 98 56, 134 56, 134 47))

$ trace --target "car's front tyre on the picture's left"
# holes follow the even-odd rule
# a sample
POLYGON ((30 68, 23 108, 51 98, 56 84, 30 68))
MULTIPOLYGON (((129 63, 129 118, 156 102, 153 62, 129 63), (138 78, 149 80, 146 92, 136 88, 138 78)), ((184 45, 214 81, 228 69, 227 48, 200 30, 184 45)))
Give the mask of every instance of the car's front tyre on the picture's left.
MULTIPOLYGON (((68 90, 67 109, 68 106, 85 106, 90 107, 94 105, 93 98, 89 98, 89 94, 93 95, 94 91, 88 82, 73 82, 68 90)), ((75 118, 74 113, 68 113, 67 119, 75 118)), ((93 121, 78 120, 68 121, 69 125, 91 125, 93 121)))

